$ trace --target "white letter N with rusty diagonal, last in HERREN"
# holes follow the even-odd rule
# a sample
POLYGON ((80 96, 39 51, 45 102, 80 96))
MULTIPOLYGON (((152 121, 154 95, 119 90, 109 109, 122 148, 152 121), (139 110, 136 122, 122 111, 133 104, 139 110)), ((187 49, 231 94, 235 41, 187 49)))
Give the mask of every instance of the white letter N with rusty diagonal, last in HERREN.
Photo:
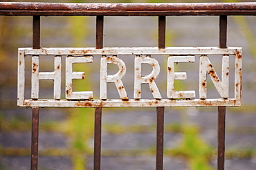
POLYGON ((210 75, 214 86, 216 87, 219 95, 222 98, 228 98, 228 74, 229 74, 229 56, 223 55, 222 57, 222 82, 220 81, 217 73, 215 72, 210 60, 205 55, 200 57, 200 70, 199 70, 199 97, 200 99, 206 98, 206 75, 210 75))

